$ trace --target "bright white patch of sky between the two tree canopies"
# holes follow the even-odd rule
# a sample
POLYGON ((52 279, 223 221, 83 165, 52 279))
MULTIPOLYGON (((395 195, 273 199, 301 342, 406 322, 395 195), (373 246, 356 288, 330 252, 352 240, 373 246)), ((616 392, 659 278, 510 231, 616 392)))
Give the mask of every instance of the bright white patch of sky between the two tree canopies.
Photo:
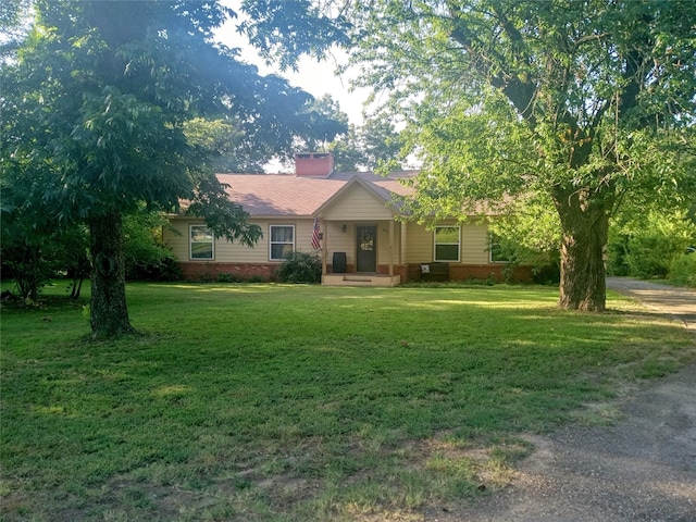
MULTIPOLYGON (((235 12, 239 13, 239 0, 224 0, 224 4, 229 5, 235 12)), ((240 14, 238 14, 240 16, 240 14)), ((350 76, 339 77, 335 74, 337 65, 346 60, 345 53, 336 51, 333 55, 327 57, 323 62, 318 63, 309 57, 302 57, 299 62, 298 72, 285 71, 268 66, 263 60, 259 58, 256 50, 248 45, 244 36, 236 32, 238 20, 228 21, 217 30, 217 37, 221 42, 228 47, 238 47, 241 49, 241 58, 247 63, 252 63, 259 67, 261 74, 276 74, 288 79, 290 85, 300 87, 307 92, 321 98, 324 95, 331 95, 338 101, 340 110, 348 114, 350 123, 356 125, 362 124, 362 104, 368 98, 368 89, 357 89, 350 91, 350 76)))

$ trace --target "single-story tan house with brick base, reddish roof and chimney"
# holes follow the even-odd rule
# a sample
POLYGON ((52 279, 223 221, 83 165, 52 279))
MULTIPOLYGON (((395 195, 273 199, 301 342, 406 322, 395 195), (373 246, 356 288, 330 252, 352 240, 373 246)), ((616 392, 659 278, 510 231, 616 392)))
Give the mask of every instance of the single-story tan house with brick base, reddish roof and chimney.
MULTIPOLYGON (((333 166, 332 154, 307 153, 296 156, 295 175, 219 174, 263 238, 250 248, 215 239, 200 219, 172 215, 164 241, 184 276, 272 278, 288 252, 316 251, 324 285, 394 286, 436 275, 504 278, 506 263, 496 259, 485 220, 448 220, 428 228, 402 219, 394 198, 411 189, 399 179, 417 172, 382 177, 333 166)), ((515 278, 531 278, 529 268, 514 270, 515 278)))

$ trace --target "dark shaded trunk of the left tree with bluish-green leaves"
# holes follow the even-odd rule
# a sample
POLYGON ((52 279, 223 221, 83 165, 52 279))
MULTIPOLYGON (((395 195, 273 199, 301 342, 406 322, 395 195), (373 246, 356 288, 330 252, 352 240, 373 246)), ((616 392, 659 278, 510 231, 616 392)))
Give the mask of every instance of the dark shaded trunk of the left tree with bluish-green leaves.
POLYGON ((123 258, 122 216, 111 212, 89 221, 91 248, 92 337, 114 337, 133 334, 126 307, 126 278, 123 258))

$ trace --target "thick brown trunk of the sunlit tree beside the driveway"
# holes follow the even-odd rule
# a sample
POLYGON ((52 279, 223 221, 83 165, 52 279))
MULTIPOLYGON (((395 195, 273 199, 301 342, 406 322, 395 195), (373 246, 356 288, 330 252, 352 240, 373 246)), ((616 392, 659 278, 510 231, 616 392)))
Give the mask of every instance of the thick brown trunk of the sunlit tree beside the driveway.
POLYGON ((554 199, 563 232, 558 307, 602 312, 607 307, 604 252, 609 212, 601 204, 583 201, 581 191, 554 199))

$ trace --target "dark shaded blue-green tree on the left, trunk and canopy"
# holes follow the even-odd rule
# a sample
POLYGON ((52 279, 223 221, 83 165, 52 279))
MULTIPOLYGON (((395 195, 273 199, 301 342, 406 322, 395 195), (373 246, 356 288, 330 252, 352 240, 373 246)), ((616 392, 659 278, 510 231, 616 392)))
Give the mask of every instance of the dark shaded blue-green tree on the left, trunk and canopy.
POLYGON ((22 181, 3 187, 12 196, 3 220, 38 209, 55 223, 87 223, 92 334, 130 333, 126 212, 172 211, 187 199, 217 237, 253 245, 261 233, 227 201, 185 123, 231 117, 244 139, 289 149, 312 134, 311 97, 214 45, 213 30, 234 15, 215 1, 41 0, 35 9, 2 69, 3 178, 22 181))

